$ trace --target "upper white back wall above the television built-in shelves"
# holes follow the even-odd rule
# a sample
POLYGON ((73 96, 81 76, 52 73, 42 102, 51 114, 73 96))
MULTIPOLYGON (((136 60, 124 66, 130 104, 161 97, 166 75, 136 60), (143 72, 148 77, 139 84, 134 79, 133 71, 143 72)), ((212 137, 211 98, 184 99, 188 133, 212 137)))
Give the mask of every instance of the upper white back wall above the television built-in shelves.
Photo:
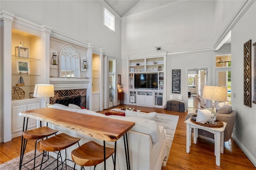
POLYGON ((212 47, 213 33, 213 1, 186 2, 122 20, 122 57, 212 47))

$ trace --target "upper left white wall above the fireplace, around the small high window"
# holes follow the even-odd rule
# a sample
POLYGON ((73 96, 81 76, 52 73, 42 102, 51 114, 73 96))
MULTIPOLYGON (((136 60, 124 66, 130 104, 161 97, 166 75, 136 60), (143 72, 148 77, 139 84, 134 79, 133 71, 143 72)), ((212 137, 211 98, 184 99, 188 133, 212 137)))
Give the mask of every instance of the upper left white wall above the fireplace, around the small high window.
POLYGON ((115 32, 106 28, 103 25, 104 5, 98 0, 1 0, 0 9, 121 55, 120 16, 113 13, 116 16, 115 32))

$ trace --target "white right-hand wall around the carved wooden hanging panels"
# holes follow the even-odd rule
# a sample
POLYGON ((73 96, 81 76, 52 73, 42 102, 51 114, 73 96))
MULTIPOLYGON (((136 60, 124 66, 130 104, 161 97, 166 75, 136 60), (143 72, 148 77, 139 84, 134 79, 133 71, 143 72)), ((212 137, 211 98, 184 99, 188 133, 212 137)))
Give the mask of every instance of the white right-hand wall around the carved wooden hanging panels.
MULTIPOLYGON (((248 40, 252 40, 252 43, 256 42, 256 3, 252 4, 249 10, 242 16, 238 23, 234 26, 231 31, 232 42, 231 42, 231 54, 232 54, 232 107, 237 111, 236 125, 238 130, 234 131, 234 138, 236 143, 244 150, 246 155, 254 161, 256 166, 256 105, 252 103, 252 107, 244 105, 244 43, 248 40), (233 78, 234 77, 234 78, 233 78), (236 97, 234 98, 234 93, 236 97)), ((253 82, 255 81, 255 73, 253 68, 256 65, 254 62, 254 51, 252 48, 252 99, 253 99, 253 82)))

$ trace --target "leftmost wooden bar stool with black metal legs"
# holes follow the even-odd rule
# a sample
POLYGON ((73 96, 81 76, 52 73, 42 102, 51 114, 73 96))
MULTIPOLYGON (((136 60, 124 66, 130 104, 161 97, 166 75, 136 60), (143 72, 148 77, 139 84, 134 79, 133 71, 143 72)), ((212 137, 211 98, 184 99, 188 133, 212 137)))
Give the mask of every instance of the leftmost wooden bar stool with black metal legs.
MULTIPOLYGON (((44 140, 44 138, 47 138, 48 136, 56 134, 57 132, 58 132, 58 130, 54 130, 54 129, 49 128, 49 127, 39 127, 39 128, 35 128, 35 129, 32 129, 32 130, 23 131, 22 132, 22 146, 21 146, 21 155, 20 155, 20 166, 19 166, 19 168, 21 169, 21 167, 24 166, 25 168, 30 169, 25 164, 34 160, 34 166, 33 166, 32 169, 35 169, 35 167, 36 167, 36 158, 43 154, 42 153, 42 154, 36 156, 36 145, 37 145, 38 140, 44 140), (26 144, 27 144, 28 140, 35 140, 35 139, 36 139, 36 143, 35 143, 34 158, 32 158, 28 162, 22 164, 22 160, 23 160, 23 157, 24 157, 24 152, 25 152, 26 144)), ((39 166, 39 165, 37 165, 37 166, 39 166)))

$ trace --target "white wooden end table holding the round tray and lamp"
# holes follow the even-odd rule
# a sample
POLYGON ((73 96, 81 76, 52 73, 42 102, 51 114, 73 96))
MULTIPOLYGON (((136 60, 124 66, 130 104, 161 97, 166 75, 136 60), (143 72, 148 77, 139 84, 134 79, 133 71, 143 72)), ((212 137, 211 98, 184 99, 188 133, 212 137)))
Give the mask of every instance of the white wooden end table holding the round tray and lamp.
POLYGON ((190 145, 191 145, 191 128, 194 128, 194 144, 197 142, 198 137, 198 129, 203 129, 208 132, 214 134, 214 155, 216 156, 216 165, 220 166, 220 153, 223 154, 224 152, 224 130, 226 128, 227 123, 223 122, 223 127, 221 128, 210 128, 210 127, 203 127, 193 123, 190 119, 186 120, 185 123, 187 124, 187 149, 186 152, 190 152, 190 145))

